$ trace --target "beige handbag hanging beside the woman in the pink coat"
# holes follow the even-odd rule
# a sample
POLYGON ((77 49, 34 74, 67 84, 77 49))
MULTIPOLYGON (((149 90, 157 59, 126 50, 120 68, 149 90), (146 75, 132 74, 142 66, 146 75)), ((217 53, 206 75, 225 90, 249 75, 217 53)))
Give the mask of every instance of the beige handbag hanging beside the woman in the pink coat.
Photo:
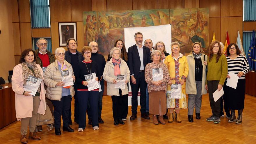
MULTIPOLYGON (((53 128, 53 123, 54 123, 54 118, 51 114, 50 108, 48 106, 48 104, 46 104, 46 111, 45 114, 37 114, 37 118, 36 118, 36 125, 40 126, 40 125, 51 125, 51 126, 47 126, 48 131, 52 130, 53 128)), ((37 127, 36 127, 36 131, 37 131, 37 127)))

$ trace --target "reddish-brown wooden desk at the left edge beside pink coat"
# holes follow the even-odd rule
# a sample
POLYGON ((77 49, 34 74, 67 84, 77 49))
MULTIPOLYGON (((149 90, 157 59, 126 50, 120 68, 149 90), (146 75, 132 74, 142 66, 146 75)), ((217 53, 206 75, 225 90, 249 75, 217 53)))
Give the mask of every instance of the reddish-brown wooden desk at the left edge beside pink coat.
POLYGON ((8 88, 0 90, 0 129, 17 120, 12 83, 5 83, 2 86, 8 86, 8 88))

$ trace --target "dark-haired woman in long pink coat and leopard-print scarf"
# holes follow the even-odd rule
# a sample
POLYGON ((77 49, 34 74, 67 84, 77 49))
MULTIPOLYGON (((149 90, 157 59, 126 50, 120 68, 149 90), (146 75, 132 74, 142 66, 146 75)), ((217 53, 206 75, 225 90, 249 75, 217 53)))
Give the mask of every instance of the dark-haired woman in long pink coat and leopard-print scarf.
POLYGON ((12 88, 15 92, 15 110, 17 120, 21 120, 20 142, 28 143, 27 129, 29 125, 29 138, 40 140, 41 137, 35 132, 37 113, 45 114, 45 89, 41 84, 33 96, 31 92, 24 90, 29 75, 43 79, 43 71, 36 64, 35 51, 25 49, 20 56, 19 64, 13 68, 12 88))

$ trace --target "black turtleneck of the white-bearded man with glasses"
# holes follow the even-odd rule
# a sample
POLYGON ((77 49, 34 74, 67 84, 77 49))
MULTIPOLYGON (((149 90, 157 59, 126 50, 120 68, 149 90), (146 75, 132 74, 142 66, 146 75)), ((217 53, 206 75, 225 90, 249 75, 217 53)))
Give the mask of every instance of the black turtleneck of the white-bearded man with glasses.
POLYGON ((91 60, 97 63, 97 66, 99 68, 99 75, 102 77, 106 65, 104 56, 98 53, 92 53, 91 60))

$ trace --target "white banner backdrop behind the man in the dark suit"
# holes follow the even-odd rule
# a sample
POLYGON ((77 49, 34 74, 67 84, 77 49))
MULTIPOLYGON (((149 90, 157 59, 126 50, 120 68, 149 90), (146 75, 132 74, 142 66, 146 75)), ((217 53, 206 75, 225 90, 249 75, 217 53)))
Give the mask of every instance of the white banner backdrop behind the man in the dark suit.
MULTIPOLYGON (((141 32, 143 34, 143 42, 146 39, 151 39, 153 42, 153 47, 158 41, 162 41, 165 44, 165 49, 167 53, 171 53, 171 43, 172 43, 172 34, 171 34, 171 25, 161 25, 161 26, 147 26, 147 27, 131 27, 125 28, 125 46, 126 51, 128 48, 135 45, 134 34, 141 32)), ((140 95, 140 94, 138 94, 140 95)), ((128 105, 131 106, 131 85, 129 83, 129 96, 128 96, 128 105)), ((140 105, 140 97, 138 97, 138 105, 140 105)))

